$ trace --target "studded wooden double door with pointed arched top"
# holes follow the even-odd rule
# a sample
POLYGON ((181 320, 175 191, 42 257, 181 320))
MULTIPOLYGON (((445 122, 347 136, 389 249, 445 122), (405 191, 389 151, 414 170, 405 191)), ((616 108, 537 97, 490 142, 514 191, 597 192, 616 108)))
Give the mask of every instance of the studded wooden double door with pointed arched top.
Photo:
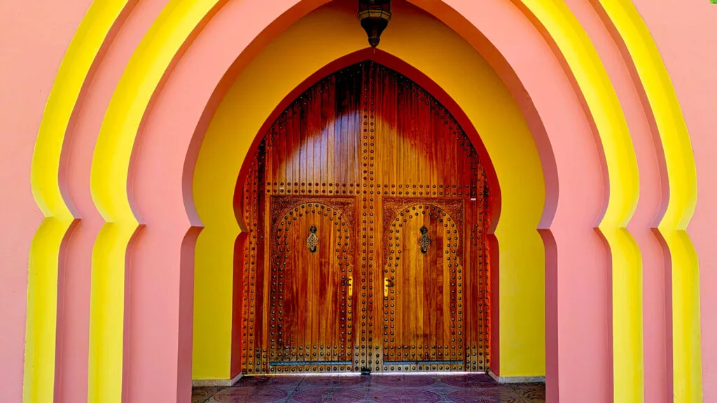
POLYGON ((239 185, 246 374, 485 371, 488 186, 421 87, 373 62, 326 77, 239 185))

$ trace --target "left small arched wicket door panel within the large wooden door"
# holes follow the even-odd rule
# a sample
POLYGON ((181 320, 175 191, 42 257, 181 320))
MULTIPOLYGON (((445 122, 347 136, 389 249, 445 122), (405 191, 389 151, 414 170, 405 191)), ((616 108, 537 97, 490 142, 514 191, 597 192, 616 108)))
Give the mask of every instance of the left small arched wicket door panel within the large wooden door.
POLYGON ((269 366, 348 370, 353 198, 272 196, 269 366))

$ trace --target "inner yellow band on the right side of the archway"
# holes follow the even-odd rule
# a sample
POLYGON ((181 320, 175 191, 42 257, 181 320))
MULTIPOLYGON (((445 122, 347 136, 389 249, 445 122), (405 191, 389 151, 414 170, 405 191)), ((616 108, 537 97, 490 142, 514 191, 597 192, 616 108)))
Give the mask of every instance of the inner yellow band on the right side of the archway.
POLYGON ((642 402, 642 257, 627 231, 640 194, 637 158, 617 94, 597 51, 560 0, 523 0, 559 47, 579 85, 604 151, 609 201, 599 224, 612 255, 614 401, 642 402))

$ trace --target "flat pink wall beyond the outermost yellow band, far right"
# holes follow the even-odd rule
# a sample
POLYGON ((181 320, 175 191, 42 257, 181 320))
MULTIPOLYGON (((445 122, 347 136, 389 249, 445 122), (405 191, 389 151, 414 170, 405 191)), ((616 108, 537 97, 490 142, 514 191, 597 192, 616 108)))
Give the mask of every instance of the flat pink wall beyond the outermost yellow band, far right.
POLYGON ((635 0, 672 78, 692 140, 698 199, 689 233, 700 260, 703 396, 717 402, 717 5, 635 0))

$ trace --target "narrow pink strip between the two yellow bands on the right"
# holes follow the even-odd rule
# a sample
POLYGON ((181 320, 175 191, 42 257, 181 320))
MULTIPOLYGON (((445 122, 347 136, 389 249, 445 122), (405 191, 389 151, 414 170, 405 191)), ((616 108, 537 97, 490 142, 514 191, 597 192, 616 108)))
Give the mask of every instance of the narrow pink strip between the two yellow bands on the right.
POLYGON ((663 190, 668 186, 667 176, 660 175, 659 161, 664 161, 664 156, 661 148, 655 147, 660 144, 660 135, 654 128, 652 115, 645 114, 650 105, 642 103, 640 79, 632 75, 630 56, 625 54, 619 34, 611 36, 614 33, 611 23, 602 15, 600 6, 580 0, 568 0, 567 3, 592 39, 612 79, 635 147, 640 170, 640 202, 628 229, 642 253, 643 323, 645 334, 650 335, 645 338, 644 351, 645 402, 669 402, 672 400, 672 366, 665 359, 672 349, 667 317, 670 283, 666 277, 669 272, 665 272, 665 263, 669 265, 669 260, 665 262, 666 248, 663 250, 652 231, 657 224, 655 218, 664 212, 663 203, 669 197, 663 190))

